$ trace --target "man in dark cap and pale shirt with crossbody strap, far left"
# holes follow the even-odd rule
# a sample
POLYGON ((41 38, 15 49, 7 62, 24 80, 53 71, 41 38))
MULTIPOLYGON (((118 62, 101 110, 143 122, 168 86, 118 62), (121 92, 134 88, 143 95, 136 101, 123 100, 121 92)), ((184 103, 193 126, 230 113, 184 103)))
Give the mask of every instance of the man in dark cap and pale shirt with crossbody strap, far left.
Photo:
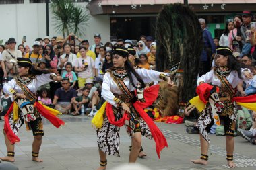
POLYGON ((22 52, 15 48, 16 41, 14 38, 9 38, 8 40, 9 48, 4 50, 1 57, 1 67, 3 69, 3 77, 9 77, 9 80, 12 77, 17 76, 17 58, 22 58, 22 52))

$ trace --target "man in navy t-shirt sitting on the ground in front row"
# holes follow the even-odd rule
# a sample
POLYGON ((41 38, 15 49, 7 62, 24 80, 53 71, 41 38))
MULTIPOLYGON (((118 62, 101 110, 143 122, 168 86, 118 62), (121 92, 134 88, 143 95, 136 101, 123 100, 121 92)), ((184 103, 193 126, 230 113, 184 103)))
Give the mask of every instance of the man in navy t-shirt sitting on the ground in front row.
POLYGON ((69 114, 71 110, 71 100, 76 97, 77 93, 75 89, 70 87, 69 78, 63 78, 62 87, 57 89, 53 99, 53 106, 56 110, 63 114, 69 114))

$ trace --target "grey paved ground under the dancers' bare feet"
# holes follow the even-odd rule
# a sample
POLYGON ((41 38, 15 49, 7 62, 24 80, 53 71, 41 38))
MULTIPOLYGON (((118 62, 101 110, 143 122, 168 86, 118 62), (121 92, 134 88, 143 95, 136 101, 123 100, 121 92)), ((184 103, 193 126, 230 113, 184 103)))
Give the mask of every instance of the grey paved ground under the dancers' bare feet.
MULTIPOLYGON (((44 121, 44 134, 40 157, 43 163, 30 161, 32 150, 32 132, 26 132, 22 127, 18 136, 21 142, 15 146, 15 165, 19 169, 46 169, 46 170, 91 170, 98 167, 98 147, 95 130, 90 125, 88 116, 61 116, 66 122, 63 128, 57 129, 49 122, 44 121)), ((1 128, 3 122, 0 122, 1 128)), ((227 169, 225 138, 211 135, 210 163, 208 166, 193 165, 189 159, 199 157, 199 136, 187 134, 184 124, 158 123, 164 132, 169 148, 161 153, 158 159, 154 141, 143 138, 143 148, 148 156, 138 159, 138 162, 150 167, 152 170, 196 170, 196 169, 227 169)), ((235 159, 238 168, 256 168, 256 147, 241 137, 236 137, 235 159)), ((121 157, 108 157, 108 169, 121 163, 126 163, 129 157, 130 138, 121 128, 121 157)), ((0 157, 6 154, 3 134, 0 134, 0 157)))

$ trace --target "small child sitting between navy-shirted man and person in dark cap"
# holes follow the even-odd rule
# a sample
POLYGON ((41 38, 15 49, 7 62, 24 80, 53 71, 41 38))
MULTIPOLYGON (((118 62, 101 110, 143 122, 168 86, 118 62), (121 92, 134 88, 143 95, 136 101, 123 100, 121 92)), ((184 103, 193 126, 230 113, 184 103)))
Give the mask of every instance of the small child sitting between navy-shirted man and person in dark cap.
POLYGON ((82 89, 83 95, 72 99, 72 105, 73 105, 73 108, 75 109, 75 111, 71 113, 73 116, 77 116, 81 114, 79 113, 79 111, 81 110, 82 105, 84 105, 84 108, 89 107, 89 103, 90 103, 90 98, 88 97, 89 92, 90 92, 89 87, 83 87, 82 89))

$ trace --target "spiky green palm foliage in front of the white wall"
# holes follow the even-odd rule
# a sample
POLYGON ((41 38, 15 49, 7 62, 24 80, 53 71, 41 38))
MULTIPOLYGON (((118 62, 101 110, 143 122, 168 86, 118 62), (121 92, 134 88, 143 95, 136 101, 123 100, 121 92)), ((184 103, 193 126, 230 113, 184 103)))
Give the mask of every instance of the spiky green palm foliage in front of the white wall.
POLYGON ((53 19, 55 20, 55 30, 63 36, 73 32, 78 36, 85 33, 83 30, 88 24, 90 14, 86 9, 74 5, 71 0, 53 0, 51 3, 53 19))

